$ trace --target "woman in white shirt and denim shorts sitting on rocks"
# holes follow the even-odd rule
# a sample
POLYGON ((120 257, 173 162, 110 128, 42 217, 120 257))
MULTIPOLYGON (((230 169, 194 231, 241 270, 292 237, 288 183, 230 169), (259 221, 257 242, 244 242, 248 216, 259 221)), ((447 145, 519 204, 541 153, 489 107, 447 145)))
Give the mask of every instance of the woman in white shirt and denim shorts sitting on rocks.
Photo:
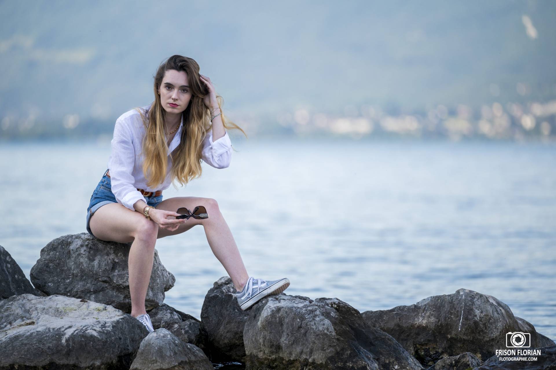
MULTIPOLYGON (((133 242, 128 258, 131 315, 152 332, 145 309, 156 239, 203 225, 216 258, 230 275, 245 310, 267 295, 283 292, 288 279, 249 277, 216 200, 180 196, 162 200, 173 180, 181 185, 201 175, 201 159, 216 168, 230 165, 231 143, 209 77, 197 62, 174 55, 158 67, 155 101, 116 120, 108 170, 87 209, 87 231, 101 240, 133 242), (180 208, 202 205, 209 218, 176 219, 180 208)), ((218 98, 218 99, 217 99, 218 98)), ((241 132, 245 132, 241 130, 241 132)))

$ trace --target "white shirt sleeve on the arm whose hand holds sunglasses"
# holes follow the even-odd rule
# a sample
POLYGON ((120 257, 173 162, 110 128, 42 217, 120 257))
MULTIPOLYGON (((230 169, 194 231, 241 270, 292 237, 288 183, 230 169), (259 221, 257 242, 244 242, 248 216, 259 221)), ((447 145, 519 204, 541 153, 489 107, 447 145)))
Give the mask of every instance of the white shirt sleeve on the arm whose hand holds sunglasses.
POLYGON ((135 164, 135 149, 132 144, 132 132, 124 120, 117 120, 112 139, 112 152, 108 161, 112 193, 118 203, 135 211, 133 204, 142 199, 147 200, 140 191, 133 186, 133 165, 135 164))

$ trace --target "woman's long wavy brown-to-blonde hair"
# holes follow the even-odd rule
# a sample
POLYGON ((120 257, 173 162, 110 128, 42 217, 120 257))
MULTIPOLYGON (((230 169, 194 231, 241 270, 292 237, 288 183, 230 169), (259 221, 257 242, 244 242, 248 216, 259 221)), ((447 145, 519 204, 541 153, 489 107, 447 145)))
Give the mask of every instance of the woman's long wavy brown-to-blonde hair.
MULTIPOLYGON (((192 58, 181 55, 171 56, 160 64, 154 76, 155 101, 147 110, 135 108, 141 114, 143 126, 145 126, 145 137, 142 141, 143 154, 145 155, 143 174, 147 179, 149 188, 156 188, 166 179, 168 145, 164 132, 165 110, 158 95, 158 87, 160 87, 162 78, 168 70, 186 72, 188 85, 192 93, 186 110, 182 112, 183 127, 180 144, 171 153, 172 171, 170 176, 172 184, 177 180, 183 186, 190 180, 201 176, 202 141, 207 132, 212 129, 210 110, 203 103, 203 97, 209 93, 209 89, 199 78, 199 65, 192 58)), ((224 100, 220 95, 217 95, 216 99, 219 107, 221 107, 224 100)), ((220 112, 222 112, 222 109, 220 112)), ((247 137, 245 131, 234 122, 226 122, 224 112, 222 112, 221 118, 225 129, 240 130, 247 137)), ((176 187, 175 184, 174 187, 176 187)))

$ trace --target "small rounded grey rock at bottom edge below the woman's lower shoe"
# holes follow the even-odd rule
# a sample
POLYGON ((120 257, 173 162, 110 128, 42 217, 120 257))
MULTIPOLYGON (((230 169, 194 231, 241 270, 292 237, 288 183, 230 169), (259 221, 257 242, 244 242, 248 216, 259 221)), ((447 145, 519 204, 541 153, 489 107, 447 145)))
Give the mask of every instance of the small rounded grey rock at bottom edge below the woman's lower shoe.
POLYGON ((185 343, 164 328, 143 339, 131 370, 209 370, 214 369, 200 348, 185 343))

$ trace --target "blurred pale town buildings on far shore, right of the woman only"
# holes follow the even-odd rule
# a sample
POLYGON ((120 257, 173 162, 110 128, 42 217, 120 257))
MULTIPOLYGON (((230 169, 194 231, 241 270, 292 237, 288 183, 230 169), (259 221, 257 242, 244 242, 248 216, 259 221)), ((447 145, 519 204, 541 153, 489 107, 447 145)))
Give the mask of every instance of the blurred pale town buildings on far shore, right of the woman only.
MULTIPOLYGON (((250 132, 269 130, 264 121, 252 119, 237 123, 250 132)), ((347 106, 342 115, 297 109, 282 112, 271 123, 273 130, 297 136, 556 141, 556 100, 504 105, 494 102, 475 109, 464 104, 438 105, 429 110, 408 112, 396 107, 347 106)))

